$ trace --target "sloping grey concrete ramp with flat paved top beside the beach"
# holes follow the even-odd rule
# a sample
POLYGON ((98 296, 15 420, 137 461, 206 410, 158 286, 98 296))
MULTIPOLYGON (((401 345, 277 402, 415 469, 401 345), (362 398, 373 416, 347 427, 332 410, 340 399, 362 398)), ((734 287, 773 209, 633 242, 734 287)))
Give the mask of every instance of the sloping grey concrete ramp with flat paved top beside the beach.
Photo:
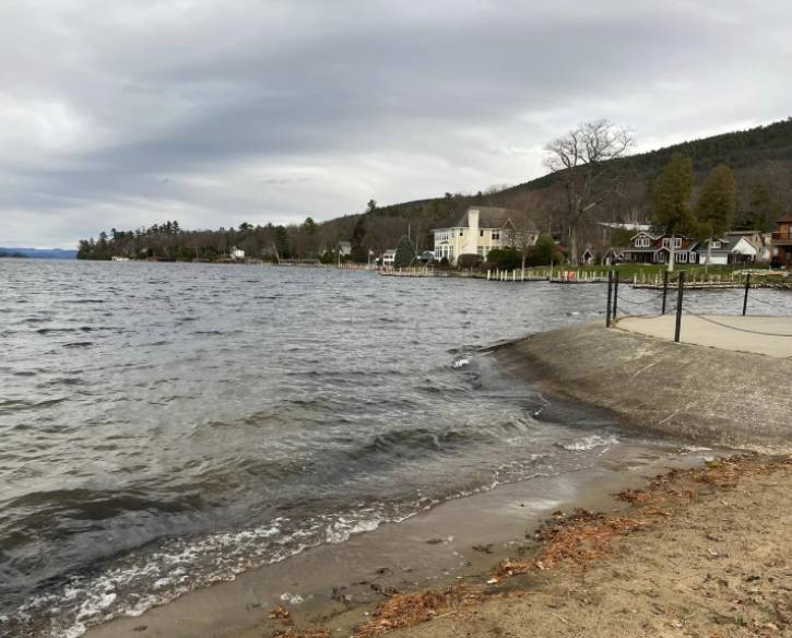
POLYGON ((625 317, 505 345, 507 370, 605 409, 626 426, 690 442, 792 452, 792 318, 625 317), (785 335, 790 336, 785 336, 785 335))

